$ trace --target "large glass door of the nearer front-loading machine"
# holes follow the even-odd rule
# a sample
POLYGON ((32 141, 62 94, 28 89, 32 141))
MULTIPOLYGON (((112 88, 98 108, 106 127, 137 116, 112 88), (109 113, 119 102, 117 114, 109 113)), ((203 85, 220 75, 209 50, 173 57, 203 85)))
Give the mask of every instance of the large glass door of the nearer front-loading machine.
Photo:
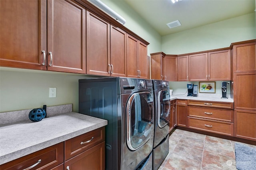
POLYGON ((136 150, 144 145, 154 132, 154 100, 150 92, 132 94, 126 104, 127 145, 136 150))

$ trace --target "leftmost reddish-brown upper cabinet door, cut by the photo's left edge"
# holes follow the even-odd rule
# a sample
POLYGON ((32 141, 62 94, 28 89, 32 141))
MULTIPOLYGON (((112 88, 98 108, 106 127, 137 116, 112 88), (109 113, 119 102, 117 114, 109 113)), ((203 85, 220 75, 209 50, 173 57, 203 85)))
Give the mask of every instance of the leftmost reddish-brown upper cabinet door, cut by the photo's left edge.
POLYGON ((0 16, 0 66, 46 70, 46 0, 1 0, 0 16))

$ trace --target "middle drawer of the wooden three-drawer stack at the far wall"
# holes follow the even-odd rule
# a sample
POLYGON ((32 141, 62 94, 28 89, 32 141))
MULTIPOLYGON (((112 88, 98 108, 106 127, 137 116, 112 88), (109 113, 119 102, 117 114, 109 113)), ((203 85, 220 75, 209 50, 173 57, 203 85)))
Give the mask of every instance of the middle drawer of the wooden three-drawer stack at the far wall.
POLYGON ((231 109, 213 109, 207 107, 188 106, 188 116, 206 118, 218 121, 234 121, 234 111, 231 109))

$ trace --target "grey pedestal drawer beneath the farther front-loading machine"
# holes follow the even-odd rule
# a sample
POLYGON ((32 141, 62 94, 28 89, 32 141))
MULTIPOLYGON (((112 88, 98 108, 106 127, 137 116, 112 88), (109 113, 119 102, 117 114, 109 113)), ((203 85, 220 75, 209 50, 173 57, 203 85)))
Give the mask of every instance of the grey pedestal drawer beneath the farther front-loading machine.
POLYGON ((153 170, 157 170, 169 153, 169 134, 153 149, 153 170))

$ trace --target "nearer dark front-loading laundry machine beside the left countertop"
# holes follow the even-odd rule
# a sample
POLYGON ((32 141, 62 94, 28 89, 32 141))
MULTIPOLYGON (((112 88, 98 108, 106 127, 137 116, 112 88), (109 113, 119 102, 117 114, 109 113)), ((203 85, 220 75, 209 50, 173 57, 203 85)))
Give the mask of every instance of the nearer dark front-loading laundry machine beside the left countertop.
POLYGON ((79 113, 108 120, 106 170, 150 170, 154 140, 152 80, 79 80, 79 113))

